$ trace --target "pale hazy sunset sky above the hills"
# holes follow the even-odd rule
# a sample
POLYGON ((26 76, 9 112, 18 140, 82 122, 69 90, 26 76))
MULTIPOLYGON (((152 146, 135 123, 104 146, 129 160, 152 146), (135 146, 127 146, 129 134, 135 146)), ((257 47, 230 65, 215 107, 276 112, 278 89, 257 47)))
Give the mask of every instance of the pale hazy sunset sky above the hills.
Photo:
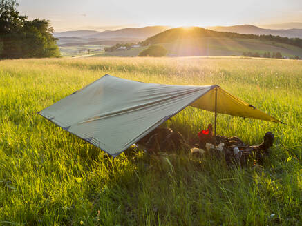
POLYGON ((56 31, 146 25, 211 26, 302 22, 302 0, 17 0, 29 19, 56 31))

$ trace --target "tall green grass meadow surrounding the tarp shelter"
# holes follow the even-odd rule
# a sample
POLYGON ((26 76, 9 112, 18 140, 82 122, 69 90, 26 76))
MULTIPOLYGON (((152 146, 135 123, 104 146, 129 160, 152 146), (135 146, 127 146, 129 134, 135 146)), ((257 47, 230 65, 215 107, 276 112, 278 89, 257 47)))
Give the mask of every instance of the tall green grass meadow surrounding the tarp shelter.
MULTIPOLYGON (((240 57, 0 61, 0 225, 301 225, 302 61, 240 57), (104 74, 219 84, 288 125, 218 115, 218 134, 276 140, 264 165, 180 152, 110 156, 37 114, 104 74)), ((187 108, 184 136, 214 121, 187 108)))

